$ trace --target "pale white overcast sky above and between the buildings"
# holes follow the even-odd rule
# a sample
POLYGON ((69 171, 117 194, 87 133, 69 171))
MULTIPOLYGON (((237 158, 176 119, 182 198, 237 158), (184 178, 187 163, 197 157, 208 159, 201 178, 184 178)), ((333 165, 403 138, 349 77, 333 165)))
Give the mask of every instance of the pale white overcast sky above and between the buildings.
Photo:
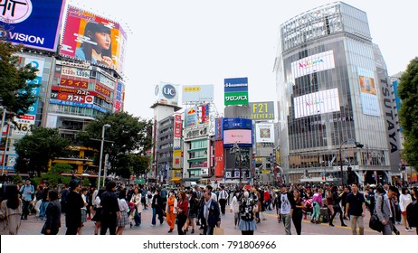
MULTIPOLYGON (((274 59, 281 23, 325 0, 67 1, 120 23, 128 33, 125 110, 152 118, 154 87, 213 84, 223 112, 223 79, 248 77, 250 102, 276 101, 274 59)), ((390 75, 418 55, 413 0, 343 1, 366 12, 390 75)), ((181 101, 179 101, 181 103, 181 101)))

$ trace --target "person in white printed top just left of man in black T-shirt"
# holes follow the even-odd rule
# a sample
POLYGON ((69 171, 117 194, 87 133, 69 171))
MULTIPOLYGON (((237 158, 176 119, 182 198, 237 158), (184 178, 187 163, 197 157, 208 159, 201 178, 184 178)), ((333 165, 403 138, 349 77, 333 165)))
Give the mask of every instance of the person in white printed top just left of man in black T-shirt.
POLYGON ((280 185, 279 206, 279 217, 283 221, 286 235, 291 235, 291 216, 293 215, 293 210, 296 208, 296 201, 293 195, 288 192, 286 184, 280 185))

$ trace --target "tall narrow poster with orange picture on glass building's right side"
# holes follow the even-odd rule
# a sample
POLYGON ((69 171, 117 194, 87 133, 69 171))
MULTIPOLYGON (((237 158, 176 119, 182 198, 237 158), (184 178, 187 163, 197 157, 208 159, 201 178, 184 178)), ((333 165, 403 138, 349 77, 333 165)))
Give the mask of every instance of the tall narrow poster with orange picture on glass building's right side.
POLYGON ((375 88, 375 72, 357 68, 358 81, 360 83, 360 99, 363 113, 380 117, 380 108, 375 88))

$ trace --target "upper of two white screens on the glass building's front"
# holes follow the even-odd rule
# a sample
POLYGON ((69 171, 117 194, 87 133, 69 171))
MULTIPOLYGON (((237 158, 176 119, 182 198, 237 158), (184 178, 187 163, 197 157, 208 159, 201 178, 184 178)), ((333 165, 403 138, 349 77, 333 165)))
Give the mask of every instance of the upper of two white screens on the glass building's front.
POLYGON ((291 74, 297 79, 313 72, 332 70, 335 67, 334 52, 330 50, 291 62, 291 74))

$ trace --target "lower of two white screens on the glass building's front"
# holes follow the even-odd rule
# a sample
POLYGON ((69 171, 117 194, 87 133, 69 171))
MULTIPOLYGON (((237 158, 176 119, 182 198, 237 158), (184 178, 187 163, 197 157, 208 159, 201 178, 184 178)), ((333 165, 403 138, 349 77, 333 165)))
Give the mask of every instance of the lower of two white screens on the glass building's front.
POLYGON ((295 118, 339 111, 338 89, 321 90, 293 98, 295 118))

